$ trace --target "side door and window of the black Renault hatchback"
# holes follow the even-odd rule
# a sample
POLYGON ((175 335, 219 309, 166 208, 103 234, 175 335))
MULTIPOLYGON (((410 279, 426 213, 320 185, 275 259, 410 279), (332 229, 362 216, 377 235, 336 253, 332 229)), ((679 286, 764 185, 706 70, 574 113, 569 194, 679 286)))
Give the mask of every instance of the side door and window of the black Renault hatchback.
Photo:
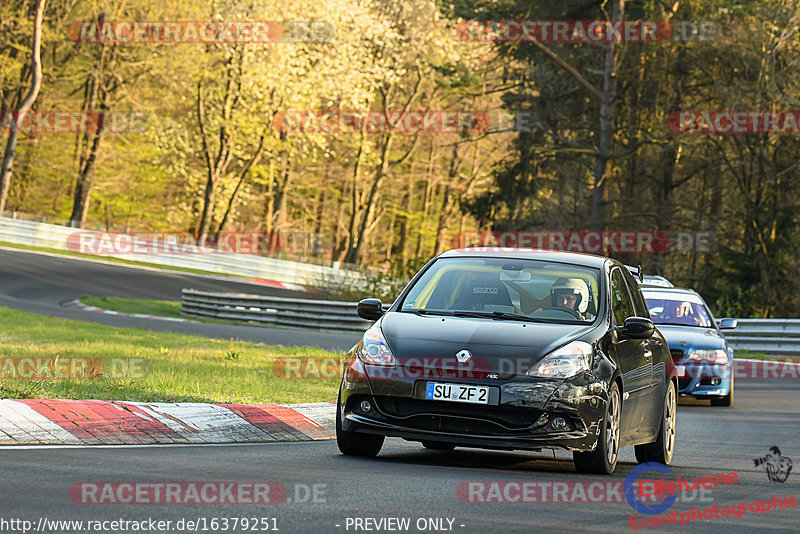
MULTIPOLYGON (((625 324, 625 319, 636 315, 628 284, 619 267, 611 271, 611 309, 614 326, 619 328, 625 324)), ((622 375, 622 433, 631 436, 639 432, 652 401, 652 353, 645 348, 644 340, 624 338, 618 332, 612 338, 612 347, 622 375)))

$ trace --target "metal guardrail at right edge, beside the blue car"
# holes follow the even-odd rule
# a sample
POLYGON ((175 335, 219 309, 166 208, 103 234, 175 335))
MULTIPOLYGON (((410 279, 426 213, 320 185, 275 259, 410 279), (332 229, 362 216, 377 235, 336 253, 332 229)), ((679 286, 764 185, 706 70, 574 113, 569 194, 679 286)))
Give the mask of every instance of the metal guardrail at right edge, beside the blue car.
POLYGON ((737 319, 738 326, 724 330, 734 350, 770 356, 800 356, 800 319, 737 319))

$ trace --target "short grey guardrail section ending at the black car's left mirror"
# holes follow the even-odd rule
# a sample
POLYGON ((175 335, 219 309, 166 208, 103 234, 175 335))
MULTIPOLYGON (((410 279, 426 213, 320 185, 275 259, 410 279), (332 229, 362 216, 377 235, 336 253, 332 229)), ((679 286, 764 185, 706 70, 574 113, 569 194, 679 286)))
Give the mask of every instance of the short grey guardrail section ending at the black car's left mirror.
POLYGON ((355 302, 215 293, 197 289, 182 291, 181 315, 353 332, 363 332, 372 324, 372 321, 358 316, 355 302))

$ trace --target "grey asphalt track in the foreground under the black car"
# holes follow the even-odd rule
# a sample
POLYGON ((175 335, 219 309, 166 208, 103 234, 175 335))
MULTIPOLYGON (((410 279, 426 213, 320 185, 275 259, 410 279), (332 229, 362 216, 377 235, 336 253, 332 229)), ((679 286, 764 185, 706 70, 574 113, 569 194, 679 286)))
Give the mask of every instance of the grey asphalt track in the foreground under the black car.
MULTIPOLYGON (((681 402, 677 451, 667 480, 735 472, 737 483, 687 492, 672 508, 680 512, 766 501, 773 495, 800 497, 800 473, 784 483, 771 482, 755 467, 754 458, 777 445, 795 463, 798 446, 797 381, 741 381, 736 406, 713 408, 698 401, 681 402), (694 495, 692 494, 694 493, 694 495), (701 500, 702 499, 702 500, 701 500)), ((0 488, 1 518, 49 520, 197 520, 205 518, 275 517, 282 533, 367 532, 346 528, 347 518, 453 519, 451 532, 486 534, 534 532, 626 532, 635 512, 627 502, 465 503, 456 489, 469 481, 595 481, 623 482, 635 466, 630 448, 621 452, 610 477, 576 474, 566 453, 494 452, 456 449, 424 450, 399 439, 386 442, 376 459, 343 457, 334 441, 238 446, 0 449, 4 483, 0 488), (273 505, 247 504, 79 504, 70 486, 80 482, 279 482, 288 500, 273 505), (296 485, 300 485, 297 489, 296 485), (295 502, 295 492, 322 484, 317 502, 295 502), (324 499, 324 502, 322 502, 324 499), (292 501, 292 502, 289 502, 292 501), (336 525, 339 525, 338 527, 336 525), (464 525, 463 527, 461 525, 464 525)), ((655 473, 647 479, 657 478, 655 473)), ((623 491, 624 493, 624 491, 623 491)), ((511 494, 512 498, 515 494, 511 494)), ((80 502, 80 500, 78 500, 80 502)), ((800 508, 751 512, 735 518, 714 518, 683 526, 650 527, 647 532, 797 532, 800 508)), ((663 514, 662 514, 663 515, 663 514)), ((445 522, 445 526, 447 523, 445 522)), ((175 529, 169 532, 188 532, 175 529)), ((639 532, 645 529, 640 529, 639 532)), ((11 530, 3 530, 12 532, 11 530)), ((202 529, 200 529, 202 531, 202 529)), ((221 531, 221 530, 218 530, 221 531)), ((241 532, 242 530, 239 530, 241 532)), ((445 530, 447 531, 447 530, 445 530)), ((67 532, 66 530, 64 532, 67 532)), ((109 531, 110 532, 110 531, 109 531)), ((121 530, 117 530, 121 532, 121 530)), ((163 531, 162 531, 163 532, 163 531)), ((213 532, 213 530, 212 530, 213 532)), ((392 532, 388 529, 372 532, 392 532)), ((397 532, 397 531, 395 531, 397 532)))

